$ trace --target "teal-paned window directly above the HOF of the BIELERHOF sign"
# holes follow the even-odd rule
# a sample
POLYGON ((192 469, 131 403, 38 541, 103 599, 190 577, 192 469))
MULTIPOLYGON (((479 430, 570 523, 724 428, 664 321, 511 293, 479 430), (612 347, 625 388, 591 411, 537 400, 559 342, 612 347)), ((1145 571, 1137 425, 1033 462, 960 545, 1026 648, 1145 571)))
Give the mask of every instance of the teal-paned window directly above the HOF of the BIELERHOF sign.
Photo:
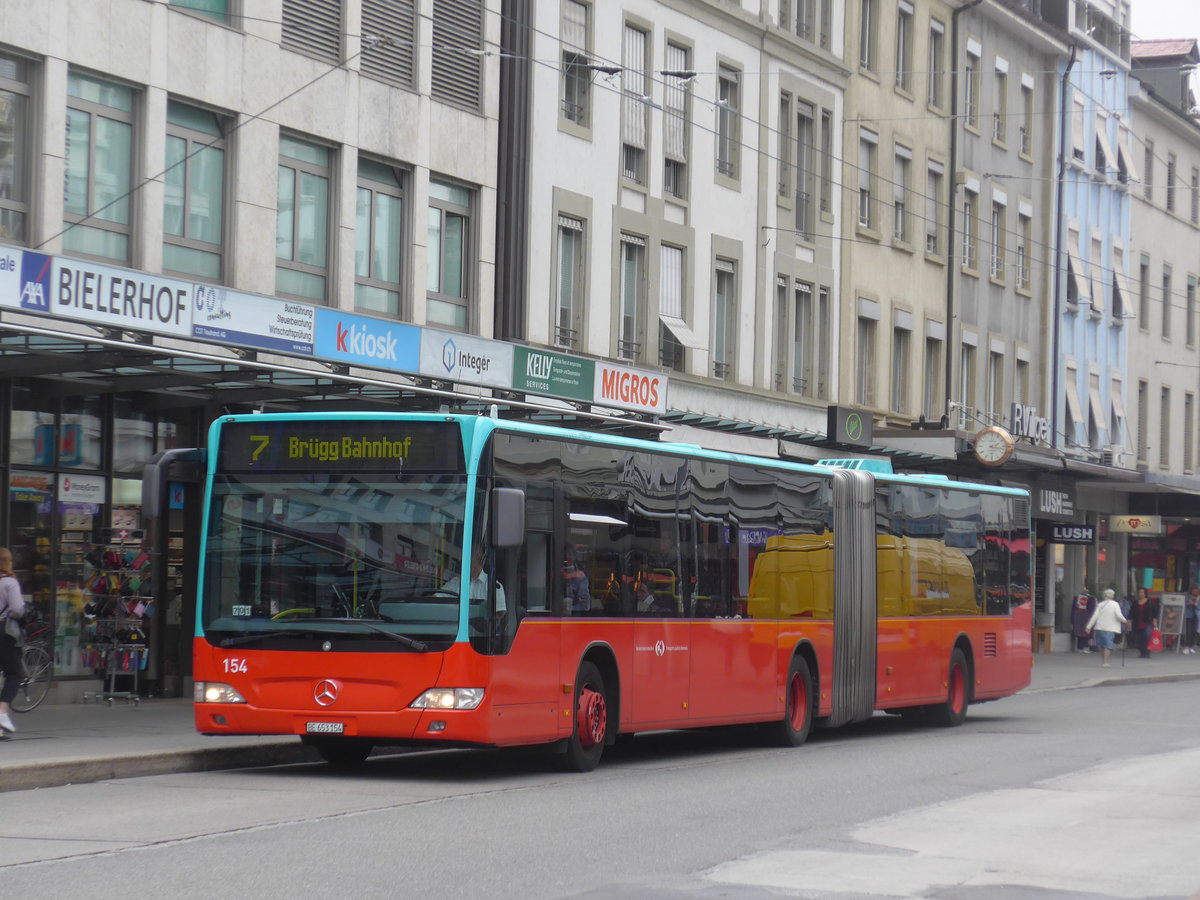
POLYGON ((221 281, 226 125, 212 113, 167 102, 162 268, 221 281))

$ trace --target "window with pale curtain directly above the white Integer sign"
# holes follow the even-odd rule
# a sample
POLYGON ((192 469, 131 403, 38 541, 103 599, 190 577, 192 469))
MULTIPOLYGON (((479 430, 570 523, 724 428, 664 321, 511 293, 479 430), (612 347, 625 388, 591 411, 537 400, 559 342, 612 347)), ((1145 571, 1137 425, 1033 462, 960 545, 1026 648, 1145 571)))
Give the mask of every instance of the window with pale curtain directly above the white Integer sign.
POLYGON ((430 181, 425 264, 425 318, 432 325, 470 328, 472 192, 430 181))

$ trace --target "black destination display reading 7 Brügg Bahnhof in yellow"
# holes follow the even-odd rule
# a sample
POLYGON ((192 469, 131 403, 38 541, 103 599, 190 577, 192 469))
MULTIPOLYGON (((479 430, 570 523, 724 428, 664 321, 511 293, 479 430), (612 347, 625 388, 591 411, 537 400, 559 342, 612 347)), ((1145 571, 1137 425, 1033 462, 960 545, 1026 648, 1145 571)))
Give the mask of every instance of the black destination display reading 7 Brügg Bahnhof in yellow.
POLYGON ((221 430, 220 472, 462 472, 454 422, 256 419, 221 430))

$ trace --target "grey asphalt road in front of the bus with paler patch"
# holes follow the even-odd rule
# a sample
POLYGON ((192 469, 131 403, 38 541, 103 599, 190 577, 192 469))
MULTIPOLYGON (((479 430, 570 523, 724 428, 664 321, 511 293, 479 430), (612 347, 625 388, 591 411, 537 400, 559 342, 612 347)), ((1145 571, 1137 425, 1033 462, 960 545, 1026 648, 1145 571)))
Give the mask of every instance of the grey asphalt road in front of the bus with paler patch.
POLYGON ((638 737, 588 775, 444 751, 0 796, 22 898, 1158 898, 1200 889, 1200 686, 1027 694, 799 750, 638 737))

